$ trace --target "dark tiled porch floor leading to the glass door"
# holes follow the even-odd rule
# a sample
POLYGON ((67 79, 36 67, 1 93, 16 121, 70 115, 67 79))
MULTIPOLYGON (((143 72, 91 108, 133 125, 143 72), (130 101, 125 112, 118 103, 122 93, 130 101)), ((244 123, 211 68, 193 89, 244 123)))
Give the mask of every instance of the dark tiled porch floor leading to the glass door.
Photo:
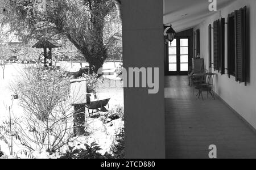
POLYGON ((256 158, 256 133, 220 99, 198 99, 187 76, 166 76, 166 158, 256 158))

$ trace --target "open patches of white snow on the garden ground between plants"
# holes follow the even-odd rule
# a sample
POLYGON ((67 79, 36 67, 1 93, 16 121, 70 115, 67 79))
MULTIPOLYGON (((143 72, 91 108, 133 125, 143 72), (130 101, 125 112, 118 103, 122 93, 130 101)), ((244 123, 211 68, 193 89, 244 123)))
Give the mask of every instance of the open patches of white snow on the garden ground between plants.
MULTIPOLYGON (((61 62, 58 63, 62 68, 65 68, 67 71, 79 71, 80 63, 71 63, 70 62, 61 62)), ((82 66, 86 66, 88 63, 82 63, 82 66)), ((116 62, 115 66, 118 66, 119 63, 116 62)), ((19 77, 20 70, 22 70, 24 65, 18 63, 12 63, 6 65, 5 69, 5 79, 2 77, 2 69, 0 68, 0 122, 4 120, 8 120, 9 118, 9 107, 11 106, 11 115, 15 117, 21 117, 23 115, 23 110, 19 107, 18 100, 11 100, 11 95, 13 93, 10 90, 11 84, 15 82, 15 79, 19 77)), ((114 69, 113 62, 106 62, 103 66, 104 70, 114 69)), ((115 107, 115 105, 123 106, 123 87, 122 82, 120 81, 109 81, 106 80, 100 91, 98 91, 98 95, 100 97, 111 97, 109 101, 110 108, 115 107)), ((77 143, 92 143, 96 142, 102 148, 101 153, 104 154, 106 151, 109 152, 110 145, 113 142, 115 133, 119 128, 123 127, 123 121, 114 120, 111 124, 103 124, 100 121, 100 118, 90 119, 90 129, 93 133, 88 137, 80 137, 77 139, 77 143)), ((76 145, 77 143, 73 143, 76 145)), ((9 154, 9 149, 6 144, 0 140, 0 146, 3 152, 9 154)), ((15 145, 14 151, 18 151, 24 148, 20 148, 20 146, 15 145)), ((42 156, 42 154, 38 154, 42 156)), ((43 156, 46 157, 46 156, 43 156)))

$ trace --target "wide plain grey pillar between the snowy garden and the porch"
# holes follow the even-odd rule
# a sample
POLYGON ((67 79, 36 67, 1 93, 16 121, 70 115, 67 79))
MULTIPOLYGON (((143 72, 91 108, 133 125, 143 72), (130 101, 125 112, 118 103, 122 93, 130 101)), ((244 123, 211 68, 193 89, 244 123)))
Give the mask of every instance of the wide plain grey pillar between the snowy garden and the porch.
POLYGON ((122 0, 122 22, 124 67, 160 71, 158 94, 125 88, 126 158, 165 158, 163 2, 122 0))

